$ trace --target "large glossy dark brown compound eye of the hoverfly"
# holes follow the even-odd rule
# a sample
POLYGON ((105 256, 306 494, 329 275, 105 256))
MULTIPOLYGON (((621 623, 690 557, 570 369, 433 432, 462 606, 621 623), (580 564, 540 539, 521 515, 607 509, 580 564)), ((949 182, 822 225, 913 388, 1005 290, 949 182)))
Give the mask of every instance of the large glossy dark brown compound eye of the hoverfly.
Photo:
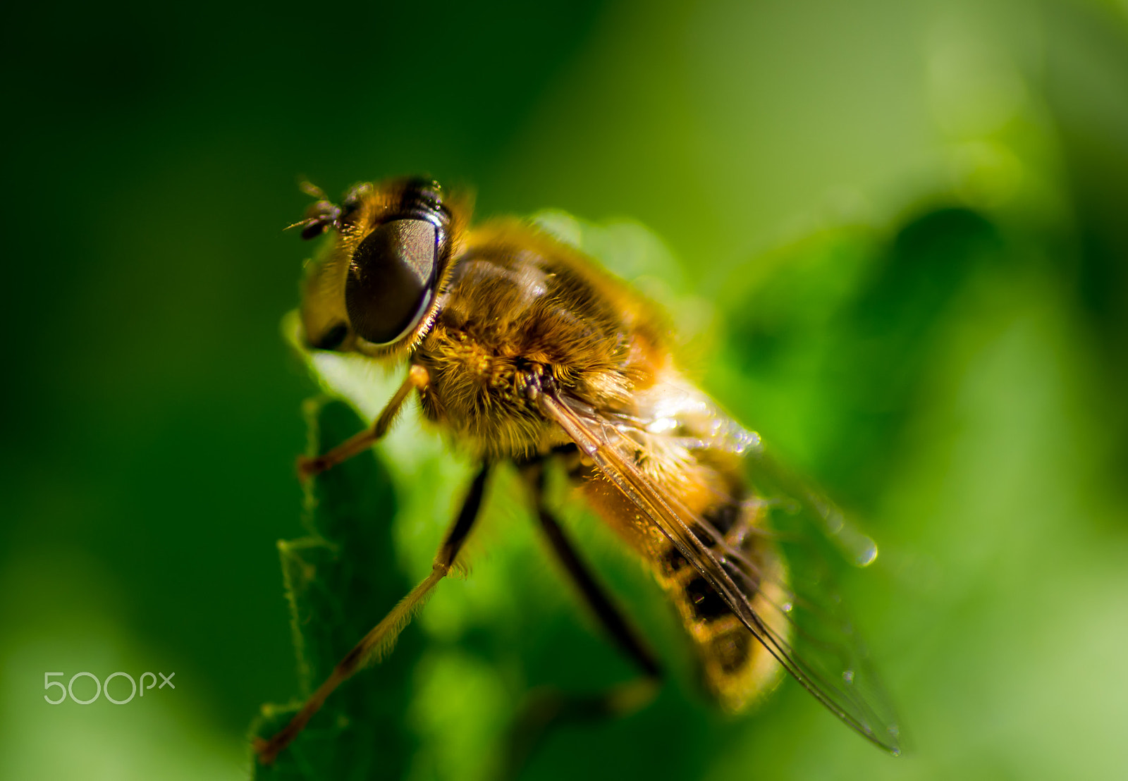
POLYGON ((438 246, 434 223, 421 219, 385 222, 360 243, 345 282, 345 309, 358 334, 389 344, 423 318, 438 246))

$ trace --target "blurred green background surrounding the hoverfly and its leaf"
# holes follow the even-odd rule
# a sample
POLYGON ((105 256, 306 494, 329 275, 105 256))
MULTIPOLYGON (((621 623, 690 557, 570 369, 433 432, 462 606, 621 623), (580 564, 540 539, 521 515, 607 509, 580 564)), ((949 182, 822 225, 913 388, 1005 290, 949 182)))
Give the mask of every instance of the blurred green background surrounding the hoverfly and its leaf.
MULTIPOLYGON (((0 776, 246 776, 249 720, 298 686, 275 541, 316 385, 281 229, 299 175, 416 172, 483 217, 652 229, 660 267, 617 270, 882 546, 847 590, 898 760, 791 682, 713 713, 656 590, 570 514, 673 675, 528 778, 1128 769, 1128 3, 25 3, 3 40, 0 776), (49 705, 60 670, 177 687, 49 705)), ((388 445, 405 582, 462 491, 440 447, 388 445)), ((488 778, 529 685, 629 674, 511 488, 400 649, 406 778, 488 778)))

